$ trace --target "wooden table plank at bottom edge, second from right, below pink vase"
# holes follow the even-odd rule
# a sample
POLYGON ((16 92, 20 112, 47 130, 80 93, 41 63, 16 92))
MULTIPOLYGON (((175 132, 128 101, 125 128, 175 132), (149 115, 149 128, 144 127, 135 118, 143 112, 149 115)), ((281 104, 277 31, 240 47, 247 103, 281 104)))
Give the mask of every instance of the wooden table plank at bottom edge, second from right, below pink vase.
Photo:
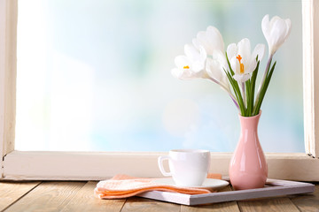
POLYGON ((299 212, 289 198, 268 198, 254 201, 237 201, 242 212, 299 212))

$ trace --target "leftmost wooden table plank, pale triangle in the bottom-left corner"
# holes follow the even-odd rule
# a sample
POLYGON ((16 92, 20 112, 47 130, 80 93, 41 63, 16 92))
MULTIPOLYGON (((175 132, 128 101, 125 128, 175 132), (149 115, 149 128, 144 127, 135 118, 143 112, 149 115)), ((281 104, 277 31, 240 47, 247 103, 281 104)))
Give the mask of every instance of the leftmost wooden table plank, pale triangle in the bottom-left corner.
POLYGON ((1 182, 0 183, 0 211, 8 208, 23 195, 41 182, 1 182))

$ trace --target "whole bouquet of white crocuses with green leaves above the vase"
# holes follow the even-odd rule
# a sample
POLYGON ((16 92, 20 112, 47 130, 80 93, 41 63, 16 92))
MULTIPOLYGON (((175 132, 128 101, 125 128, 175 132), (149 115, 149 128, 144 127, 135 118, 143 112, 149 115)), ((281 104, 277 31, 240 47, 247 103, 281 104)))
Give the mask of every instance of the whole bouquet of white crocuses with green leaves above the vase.
POLYGON ((268 42, 268 63, 257 94, 256 78, 265 45, 257 44, 252 52, 250 41, 244 38, 237 44, 231 43, 225 51, 222 34, 211 26, 206 32, 198 32, 192 44, 184 46, 185 55, 175 57, 176 68, 172 74, 178 79, 212 80, 230 95, 241 116, 258 115, 276 66, 272 58, 290 34, 291 20, 276 16, 269 21, 266 15, 261 21, 261 29, 268 42))

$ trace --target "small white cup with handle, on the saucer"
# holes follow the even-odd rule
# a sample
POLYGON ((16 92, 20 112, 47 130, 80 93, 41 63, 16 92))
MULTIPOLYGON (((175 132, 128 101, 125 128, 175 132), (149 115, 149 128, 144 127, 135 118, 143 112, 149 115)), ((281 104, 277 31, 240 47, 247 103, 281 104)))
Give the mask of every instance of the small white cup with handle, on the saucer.
POLYGON ((172 176, 177 186, 201 186, 210 166, 210 152, 201 149, 175 149, 169 155, 159 156, 159 170, 164 176, 172 176), (169 172, 163 161, 168 160, 169 172))

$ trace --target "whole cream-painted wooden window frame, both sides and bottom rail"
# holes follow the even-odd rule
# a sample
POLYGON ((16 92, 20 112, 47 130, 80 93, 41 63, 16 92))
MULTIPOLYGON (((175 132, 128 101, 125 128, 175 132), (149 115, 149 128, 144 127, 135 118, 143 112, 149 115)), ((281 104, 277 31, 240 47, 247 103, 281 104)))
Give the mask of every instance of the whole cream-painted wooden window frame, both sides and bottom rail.
MULTIPOLYGON (((266 153, 268 177, 319 181, 319 1, 302 0, 306 153, 266 153), (316 12, 315 12, 316 11, 316 12)), ((18 0, 0 0, 1 180, 99 180, 118 173, 160 177, 162 152, 43 152, 14 150, 18 0)), ((212 153, 211 171, 228 175, 231 153, 212 153), (217 165, 218 164, 218 165, 217 165)))

